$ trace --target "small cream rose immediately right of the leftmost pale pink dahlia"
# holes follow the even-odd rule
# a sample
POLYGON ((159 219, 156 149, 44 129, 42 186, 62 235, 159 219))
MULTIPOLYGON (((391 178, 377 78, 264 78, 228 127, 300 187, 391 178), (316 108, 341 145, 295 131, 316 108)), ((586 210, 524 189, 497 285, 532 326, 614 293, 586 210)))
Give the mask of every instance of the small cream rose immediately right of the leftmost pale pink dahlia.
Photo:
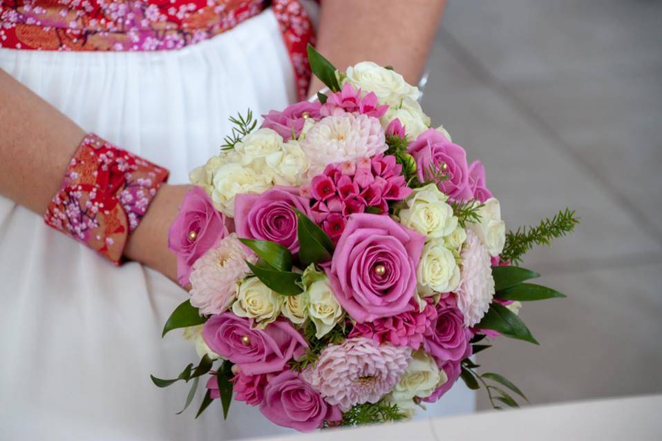
POLYGON ((258 327, 264 328, 276 320, 283 306, 280 295, 263 284, 257 277, 250 277, 239 285, 237 300, 232 304, 232 312, 239 317, 255 319, 258 327))

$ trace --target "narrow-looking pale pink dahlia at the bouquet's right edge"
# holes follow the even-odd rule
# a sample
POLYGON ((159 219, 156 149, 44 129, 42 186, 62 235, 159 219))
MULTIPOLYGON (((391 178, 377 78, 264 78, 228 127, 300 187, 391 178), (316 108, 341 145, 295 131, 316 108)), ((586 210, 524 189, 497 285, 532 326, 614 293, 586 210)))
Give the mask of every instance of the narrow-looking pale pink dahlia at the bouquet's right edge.
POLYGON ((468 230, 461 256, 462 281, 457 288, 457 307, 464 314, 464 324, 474 326, 485 315, 494 297, 490 255, 477 235, 468 230))

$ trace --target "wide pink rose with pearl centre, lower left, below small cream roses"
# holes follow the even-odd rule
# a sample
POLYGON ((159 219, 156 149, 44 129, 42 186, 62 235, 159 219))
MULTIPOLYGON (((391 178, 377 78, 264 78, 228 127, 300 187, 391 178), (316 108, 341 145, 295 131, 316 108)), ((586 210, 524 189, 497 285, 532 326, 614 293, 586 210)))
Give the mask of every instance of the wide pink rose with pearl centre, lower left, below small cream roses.
POLYGON ((292 357, 308 347, 289 322, 276 320, 265 329, 252 329, 250 320, 229 312, 207 320, 202 338, 211 351, 239 366, 246 375, 282 371, 292 357))

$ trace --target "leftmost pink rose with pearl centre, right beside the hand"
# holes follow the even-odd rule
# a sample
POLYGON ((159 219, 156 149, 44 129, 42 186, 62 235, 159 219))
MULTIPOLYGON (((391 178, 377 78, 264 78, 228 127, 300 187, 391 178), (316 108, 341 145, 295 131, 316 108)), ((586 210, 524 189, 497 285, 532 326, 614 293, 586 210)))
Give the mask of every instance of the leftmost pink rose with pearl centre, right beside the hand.
POLYGON ((185 286, 193 264, 228 234, 227 219, 211 204, 205 190, 195 186, 182 200, 168 230, 168 248, 177 255, 177 281, 185 286))

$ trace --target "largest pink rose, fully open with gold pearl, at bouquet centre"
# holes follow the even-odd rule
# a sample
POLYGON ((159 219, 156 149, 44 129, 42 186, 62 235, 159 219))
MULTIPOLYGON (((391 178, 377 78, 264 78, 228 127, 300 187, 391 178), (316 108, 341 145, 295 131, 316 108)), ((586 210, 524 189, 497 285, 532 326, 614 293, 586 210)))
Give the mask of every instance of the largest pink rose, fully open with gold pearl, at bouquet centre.
POLYGON ((359 323, 410 311, 424 242, 388 216, 350 216, 326 268, 338 302, 359 323))

